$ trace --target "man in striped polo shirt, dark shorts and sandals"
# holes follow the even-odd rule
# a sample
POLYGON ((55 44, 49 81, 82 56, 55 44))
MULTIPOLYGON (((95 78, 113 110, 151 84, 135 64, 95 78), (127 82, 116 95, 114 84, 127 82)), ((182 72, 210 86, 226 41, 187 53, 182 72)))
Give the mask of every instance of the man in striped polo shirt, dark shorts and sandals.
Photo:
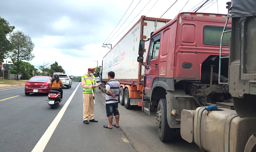
POLYGON ((109 82, 106 83, 106 113, 109 117, 109 124, 104 125, 104 128, 112 129, 113 126, 119 128, 119 111, 118 111, 118 95, 121 91, 120 83, 115 79, 115 73, 113 71, 108 72, 109 82), (115 116, 116 123, 113 122, 113 114, 115 116))

